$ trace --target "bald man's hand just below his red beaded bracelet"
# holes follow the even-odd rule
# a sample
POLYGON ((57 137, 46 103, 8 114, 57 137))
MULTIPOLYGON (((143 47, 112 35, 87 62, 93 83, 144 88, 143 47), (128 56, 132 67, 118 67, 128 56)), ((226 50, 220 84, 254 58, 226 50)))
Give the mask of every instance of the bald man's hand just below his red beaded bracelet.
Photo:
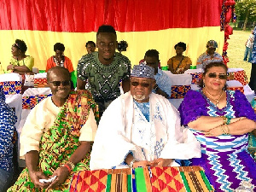
POLYGON ((51 176, 51 177, 56 176, 56 178, 52 183, 50 183, 50 185, 47 189, 53 189, 56 186, 62 184, 66 180, 68 174, 69 174, 69 172, 68 172, 66 166, 61 166, 58 169, 56 169, 55 172, 51 176))

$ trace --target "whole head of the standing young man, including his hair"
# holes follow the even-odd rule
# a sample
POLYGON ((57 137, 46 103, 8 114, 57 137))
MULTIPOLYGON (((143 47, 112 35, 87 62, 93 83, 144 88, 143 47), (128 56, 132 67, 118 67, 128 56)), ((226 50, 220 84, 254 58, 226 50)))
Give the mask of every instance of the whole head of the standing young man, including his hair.
POLYGON ((113 26, 100 26, 96 34, 96 47, 102 64, 110 64, 117 48, 117 36, 113 26))

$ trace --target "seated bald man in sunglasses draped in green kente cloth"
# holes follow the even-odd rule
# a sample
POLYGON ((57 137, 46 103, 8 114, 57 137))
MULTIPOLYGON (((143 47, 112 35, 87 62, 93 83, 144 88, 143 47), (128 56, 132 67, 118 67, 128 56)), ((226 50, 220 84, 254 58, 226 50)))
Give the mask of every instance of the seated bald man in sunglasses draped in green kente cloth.
POLYGON ((90 92, 70 92, 69 74, 65 67, 49 69, 52 96, 27 116, 20 135, 20 158, 25 158, 27 168, 9 191, 64 191, 73 172, 89 170, 98 112, 90 92), (52 177, 49 183, 39 181, 52 177))

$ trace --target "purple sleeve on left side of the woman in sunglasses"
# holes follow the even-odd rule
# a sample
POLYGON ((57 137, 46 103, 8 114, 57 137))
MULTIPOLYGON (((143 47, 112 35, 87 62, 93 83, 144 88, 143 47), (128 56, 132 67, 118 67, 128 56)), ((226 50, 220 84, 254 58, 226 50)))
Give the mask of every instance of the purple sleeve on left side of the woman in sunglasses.
POLYGON ((209 116, 207 114, 206 102, 200 92, 189 90, 178 108, 182 125, 188 125, 189 122, 201 116, 209 116))

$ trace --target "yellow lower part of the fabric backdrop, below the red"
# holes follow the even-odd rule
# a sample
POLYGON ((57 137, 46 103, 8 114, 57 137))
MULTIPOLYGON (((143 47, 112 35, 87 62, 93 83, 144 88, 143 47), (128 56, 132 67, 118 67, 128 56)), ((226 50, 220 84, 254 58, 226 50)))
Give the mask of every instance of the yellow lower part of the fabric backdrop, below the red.
MULTIPOLYGON (((175 54, 175 44, 182 41, 187 44, 184 55, 191 58, 193 65, 201 53, 206 50, 207 41, 214 39, 218 42, 218 53, 222 53, 224 45, 224 32, 219 26, 204 26, 200 28, 171 28, 150 32, 117 32, 118 41, 125 40, 128 49, 122 52, 135 65, 143 59, 148 49, 157 49, 160 52, 161 66, 166 66, 169 58, 175 54)), ((2 30, 0 31, 0 61, 5 70, 9 64, 11 46, 15 39, 23 39, 27 45, 26 55, 35 58, 35 66, 45 70, 46 60, 54 55, 53 46, 60 42, 65 45, 65 55, 73 61, 76 69, 82 55, 86 54, 85 43, 89 40, 96 42, 96 32, 42 32, 28 30, 2 30)))

